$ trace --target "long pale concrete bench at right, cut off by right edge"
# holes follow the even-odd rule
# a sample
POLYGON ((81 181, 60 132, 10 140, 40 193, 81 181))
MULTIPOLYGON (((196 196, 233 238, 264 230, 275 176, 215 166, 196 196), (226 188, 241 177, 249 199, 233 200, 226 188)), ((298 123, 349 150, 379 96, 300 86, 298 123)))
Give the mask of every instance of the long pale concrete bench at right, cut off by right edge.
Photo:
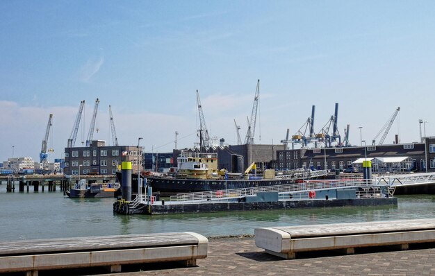
POLYGON ((296 252, 341 249, 353 254, 354 248, 380 245, 406 250, 410 243, 435 241, 435 219, 268 227, 254 234, 258 248, 286 259, 295 259, 296 252))

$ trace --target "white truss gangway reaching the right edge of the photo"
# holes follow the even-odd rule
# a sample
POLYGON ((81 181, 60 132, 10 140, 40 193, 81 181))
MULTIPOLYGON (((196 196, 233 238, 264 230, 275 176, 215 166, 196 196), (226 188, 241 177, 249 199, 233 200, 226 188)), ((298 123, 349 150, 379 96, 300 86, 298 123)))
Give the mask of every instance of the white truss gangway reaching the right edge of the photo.
POLYGON ((435 184, 435 173, 407 173, 400 175, 382 175, 372 178, 372 182, 389 187, 435 184))

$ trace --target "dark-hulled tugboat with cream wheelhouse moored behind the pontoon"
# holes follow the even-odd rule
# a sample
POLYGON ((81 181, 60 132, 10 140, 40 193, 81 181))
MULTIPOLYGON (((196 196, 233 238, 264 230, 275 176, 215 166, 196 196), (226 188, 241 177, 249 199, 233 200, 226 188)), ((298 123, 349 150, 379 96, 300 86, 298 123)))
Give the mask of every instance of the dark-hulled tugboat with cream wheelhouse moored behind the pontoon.
MULTIPOLYGON (((262 176, 255 173, 255 163, 247 168, 244 174, 228 173, 217 170, 217 153, 182 152, 177 158, 177 168, 167 175, 147 175, 141 173, 154 193, 161 196, 170 196, 176 193, 197 191, 219 191, 224 189, 241 189, 252 187, 265 187, 273 185, 293 184, 305 179, 322 178, 326 171, 295 170, 288 171, 286 175, 275 175, 273 169, 265 170, 262 176)), ((132 183, 138 182, 138 174, 132 173, 132 183)), ((122 185, 121 172, 117 172, 117 179, 122 185)), ((132 189, 137 187, 132 185, 132 189)))

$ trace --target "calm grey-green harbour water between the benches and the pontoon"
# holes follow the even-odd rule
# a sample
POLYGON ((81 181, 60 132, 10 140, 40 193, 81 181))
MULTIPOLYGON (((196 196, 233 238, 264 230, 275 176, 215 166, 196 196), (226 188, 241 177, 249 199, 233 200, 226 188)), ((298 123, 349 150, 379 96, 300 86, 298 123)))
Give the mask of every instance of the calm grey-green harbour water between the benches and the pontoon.
POLYGON ((113 214, 113 198, 71 199, 60 191, 6 193, 0 185, 0 240, 156 232, 253 234, 256 227, 435 218, 435 195, 400 196, 397 207, 336 207, 165 216, 113 214))

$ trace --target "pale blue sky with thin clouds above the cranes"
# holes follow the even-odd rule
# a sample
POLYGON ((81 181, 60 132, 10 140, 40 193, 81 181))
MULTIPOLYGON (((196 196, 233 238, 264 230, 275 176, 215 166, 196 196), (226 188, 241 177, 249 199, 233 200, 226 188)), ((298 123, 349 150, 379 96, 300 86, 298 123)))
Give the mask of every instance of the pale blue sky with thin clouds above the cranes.
POLYGON ((99 132, 167 152, 197 141, 196 89, 209 133, 236 144, 260 102, 255 141, 279 143, 316 106, 319 132, 339 103, 341 134, 371 141, 397 107, 384 144, 434 135, 434 1, 0 1, 0 161, 60 157, 79 103, 76 146, 100 99, 99 132), (84 121, 83 121, 84 119, 84 121))

